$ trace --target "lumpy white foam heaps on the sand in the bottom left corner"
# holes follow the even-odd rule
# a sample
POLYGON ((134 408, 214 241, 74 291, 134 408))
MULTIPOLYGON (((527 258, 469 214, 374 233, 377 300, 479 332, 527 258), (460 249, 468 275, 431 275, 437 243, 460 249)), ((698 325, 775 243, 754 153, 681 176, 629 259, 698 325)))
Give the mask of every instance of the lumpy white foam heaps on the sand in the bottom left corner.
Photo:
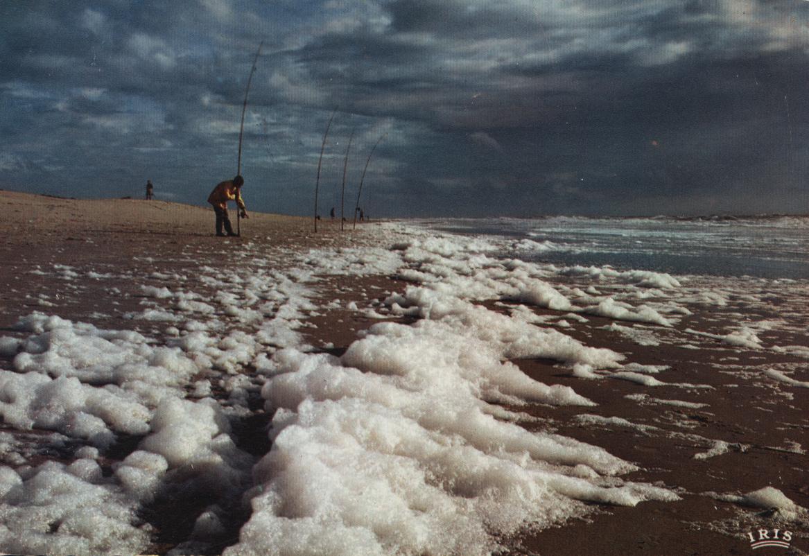
MULTIPOLYGON (((200 370, 178 347, 129 331, 96 329, 34 313, 17 329, 17 372, 0 371, 0 414, 19 430, 59 431, 105 451, 119 435, 140 449, 102 477, 91 459, 0 473, 0 545, 20 554, 142 552, 150 531, 138 507, 161 488, 221 493, 246 488, 252 458, 240 452, 213 400, 184 401, 200 370), (54 378, 55 377, 55 378, 54 378)), ((6 342, 8 343, 8 342, 6 342)), ((85 457, 99 449, 82 448, 85 457)), ((24 461, 24 457, 23 457, 24 461)))

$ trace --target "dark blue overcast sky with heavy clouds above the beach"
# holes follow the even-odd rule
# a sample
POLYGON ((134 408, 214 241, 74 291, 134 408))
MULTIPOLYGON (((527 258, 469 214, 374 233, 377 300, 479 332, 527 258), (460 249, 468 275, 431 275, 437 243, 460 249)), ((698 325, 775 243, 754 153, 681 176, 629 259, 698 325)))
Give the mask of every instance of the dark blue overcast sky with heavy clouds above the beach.
POLYGON ((806 0, 0 0, 0 188, 371 216, 809 212, 806 0))

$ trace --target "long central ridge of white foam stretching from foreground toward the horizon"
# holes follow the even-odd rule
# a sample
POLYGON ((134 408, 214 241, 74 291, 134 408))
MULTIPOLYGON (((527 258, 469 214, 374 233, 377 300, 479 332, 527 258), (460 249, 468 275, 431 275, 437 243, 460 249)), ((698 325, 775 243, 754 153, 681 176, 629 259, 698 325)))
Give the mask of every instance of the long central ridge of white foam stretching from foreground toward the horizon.
MULTIPOLYGON (((400 241, 396 272, 416 285, 383 304, 420 320, 373 325, 339 359, 289 348, 262 359, 273 447, 253 469, 252 516, 228 556, 490 554, 498 538, 581 516, 587 503, 678 498, 622 482, 617 475, 636 469, 629 462, 528 431, 515 423, 523 415, 503 407, 593 405, 509 359, 557 359, 598 376, 623 356, 542 329, 531 311, 472 303, 582 310, 536 265, 503 265, 486 256, 492 249, 448 236, 400 241)), ((334 258, 328 265, 337 268, 334 258)))

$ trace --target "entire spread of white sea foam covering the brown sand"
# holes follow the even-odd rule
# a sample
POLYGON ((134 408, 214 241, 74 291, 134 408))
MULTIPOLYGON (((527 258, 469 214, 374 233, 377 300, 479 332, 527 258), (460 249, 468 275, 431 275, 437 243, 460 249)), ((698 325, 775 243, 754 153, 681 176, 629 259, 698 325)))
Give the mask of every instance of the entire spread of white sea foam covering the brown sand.
MULTIPOLYGON (((634 466, 603 448, 520 426, 527 404, 593 402, 532 380, 509 361, 553 359, 582 377, 663 384, 651 376, 662 368, 622 368, 623 354, 587 346, 511 304, 565 312, 571 322, 595 314, 668 328, 684 312, 649 299, 680 288, 676 278, 502 261, 492 257, 502 245, 489 240, 413 228, 380 227, 364 241, 308 253, 246 244, 244 264, 227 277, 204 265, 194 270, 216 295, 144 283, 146 308, 129 317, 171 322, 165 338, 39 313, 21 319, 27 337, 0 338, 2 354, 14 355, 15 372, 0 372, 9 385, 0 398, 7 422, 59 431, 100 455, 122 434, 142 438, 110 477, 90 458, 72 470, 0 468, 0 534, 36 533, 11 545, 22 553, 59 552, 62 542, 71 554, 109 552, 105 543, 116 535, 125 539, 116 550, 135 553, 148 542, 138 508, 174 488, 224 501, 245 494, 252 516, 227 554, 488 554, 503 536, 581 516, 594 502, 677 499, 622 481, 634 466), (599 288, 553 286, 546 278, 557 272, 587 276, 599 288), (301 327, 328 310, 312 303, 318 277, 370 274, 411 282, 375 315, 420 320, 380 322, 340 359, 305 345, 301 327), (250 367, 256 373, 247 378, 250 367), (251 473, 254 462, 236 447, 227 418, 249 414, 248 394, 258 388, 274 412, 273 446, 251 473), (206 397, 214 391, 218 401, 206 397), (70 515, 71 501, 104 506, 95 521, 104 526, 39 535, 51 522, 43 528, 39 510, 23 499, 39 488, 40 473, 76 478, 64 497, 37 491, 40 506, 60 508, 58 520, 70 515), (53 544, 37 544, 49 538, 53 544)), ((55 271, 68 280, 76 274, 55 271)), ((221 513, 202 513, 197 540, 221 532, 221 513)))

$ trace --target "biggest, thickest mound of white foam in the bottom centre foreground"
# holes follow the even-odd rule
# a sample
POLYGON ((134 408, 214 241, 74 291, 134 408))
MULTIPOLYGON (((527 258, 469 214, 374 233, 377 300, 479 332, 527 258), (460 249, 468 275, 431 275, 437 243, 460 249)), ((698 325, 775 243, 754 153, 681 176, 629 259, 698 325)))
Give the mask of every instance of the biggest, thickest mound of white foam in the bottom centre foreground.
POLYGON ((489 554, 497 535, 582 515, 585 501, 676 499, 604 482, 634 467, 602 448, 508 422, 519 416, 485 400, 585 400, 556 397, 477 337, 431 328, 442 325, 380 323, 341 359, 273 356, 273 448, 226 554, 489 554))

